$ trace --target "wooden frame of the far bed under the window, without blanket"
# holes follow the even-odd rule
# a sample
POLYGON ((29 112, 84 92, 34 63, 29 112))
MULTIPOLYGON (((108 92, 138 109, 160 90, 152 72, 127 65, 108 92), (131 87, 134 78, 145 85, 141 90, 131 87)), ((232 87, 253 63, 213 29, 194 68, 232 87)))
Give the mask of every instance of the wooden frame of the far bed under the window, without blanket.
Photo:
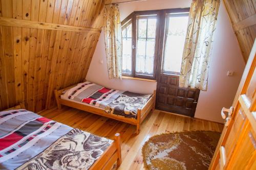
MULTIPOLYGON (((76 86, 76 85, 74 85, 76 86)), ((119 120, 121 122, 124 123, 128 123, 128 124, 132 124, 132 125, 136 125, 136 133, 139 134, 140 132, 140 124, 143 122, 143 120, 146 118, 147 114, 150 113, 150 111, 154 111, 155 110, 155 105, 156 105, 156 90, 154 90, 153 95, 151 96, 151 98, 146 102, 146 104, 138 109, 138 113, 137 113, 137 119, 134 118, 126 118, 126 117, 122 117, 122 116, 117 116, 117 115, 113 115, 113 114, 106 114, 104 112, 104 110, 100 109, 100 108, 96 108, 96 107, 92 107, 92 106, 88 106, 88 105, 83 105, 83 104, 79 104, 76 102, 72 102, 72 101, 68 101, 65 99, 61 99, 60 95, 62 95, 62 92, 65 90, 68 90, 74 86, 70 86, 61 90, 54 90, 54 95, 55 95, 55 99, 57 102, 57 106, 58 109, 61 109, 61 105, 65 105, 65 106, 69 106, 69 107, 73 107, 79 110, 83 110, 83 111, 87 111, 90 113, 95 113, 101 116, 105 116, 105 117, 109 117, 109 118, 113 118, 116 120, 119 120)))

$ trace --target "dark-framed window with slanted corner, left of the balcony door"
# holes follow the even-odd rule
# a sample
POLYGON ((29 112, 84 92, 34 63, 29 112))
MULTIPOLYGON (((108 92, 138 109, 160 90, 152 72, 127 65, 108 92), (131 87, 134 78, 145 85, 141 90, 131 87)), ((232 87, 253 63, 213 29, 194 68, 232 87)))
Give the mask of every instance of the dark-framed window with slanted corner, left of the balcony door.
POLYGON ((122 21, 122 74, 156 79, 158 14, 136 13, 122 21))

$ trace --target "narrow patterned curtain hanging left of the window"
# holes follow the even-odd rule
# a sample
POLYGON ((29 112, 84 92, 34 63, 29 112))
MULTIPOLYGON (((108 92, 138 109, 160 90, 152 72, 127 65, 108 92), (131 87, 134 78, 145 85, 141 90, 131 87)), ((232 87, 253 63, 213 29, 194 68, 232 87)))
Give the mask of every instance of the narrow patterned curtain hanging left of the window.
POLYGON ((116 4, 105 5, 104 35, 106 65, 110 79, 122 77, 122 29, 119 8, 116 4))

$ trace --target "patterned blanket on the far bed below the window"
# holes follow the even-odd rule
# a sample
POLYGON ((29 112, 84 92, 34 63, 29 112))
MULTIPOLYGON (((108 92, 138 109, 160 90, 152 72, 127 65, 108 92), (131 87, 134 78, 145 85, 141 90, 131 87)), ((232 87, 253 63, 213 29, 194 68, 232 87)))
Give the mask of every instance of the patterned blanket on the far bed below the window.
POLYGON ((104 109, 105 113, 137 118, 137 110, 142 108, 151 94, 139 94, 102 87, 84 82, 67 90, 62 99, 71 99, 104 109))

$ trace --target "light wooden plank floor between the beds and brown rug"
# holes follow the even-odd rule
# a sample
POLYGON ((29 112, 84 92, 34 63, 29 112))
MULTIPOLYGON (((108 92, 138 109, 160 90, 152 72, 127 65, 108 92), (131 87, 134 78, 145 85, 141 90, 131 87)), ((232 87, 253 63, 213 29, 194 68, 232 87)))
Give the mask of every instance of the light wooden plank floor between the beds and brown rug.
POLYGON ((221 132, 223 129, 222 124, 165 113, 159 110, 148 114, 141 125, 139 135, 136 135, 136 127, 133 125, 69 107, 63 107, 61 110, 54 108, 39 114, 73 128, 79 128, 110 139, 114 139, 115 133, 120 133, 122 164, 119 169, 144 169, 141 148, 143 143, 153 135, 195 130, 221 132))

